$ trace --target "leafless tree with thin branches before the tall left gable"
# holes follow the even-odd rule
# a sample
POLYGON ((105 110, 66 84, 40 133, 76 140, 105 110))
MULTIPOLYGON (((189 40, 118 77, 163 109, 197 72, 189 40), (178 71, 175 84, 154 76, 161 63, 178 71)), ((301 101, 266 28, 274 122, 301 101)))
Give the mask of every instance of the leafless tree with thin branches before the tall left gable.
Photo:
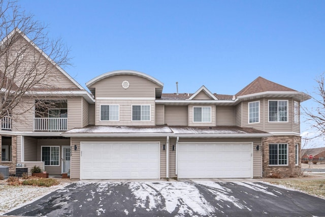
POLYGON ((46 28, 16 2, 0 0, 1 119, 17 116, 34 106, 52 105, 44 97, 38 99, 37 92, 55 88, 58 81, 51 76, 53 70, 69 65, 70 59, 62 40, 50 40, 46 28), (36 104, 15 109, 24 98, 32 98, 36 104))

